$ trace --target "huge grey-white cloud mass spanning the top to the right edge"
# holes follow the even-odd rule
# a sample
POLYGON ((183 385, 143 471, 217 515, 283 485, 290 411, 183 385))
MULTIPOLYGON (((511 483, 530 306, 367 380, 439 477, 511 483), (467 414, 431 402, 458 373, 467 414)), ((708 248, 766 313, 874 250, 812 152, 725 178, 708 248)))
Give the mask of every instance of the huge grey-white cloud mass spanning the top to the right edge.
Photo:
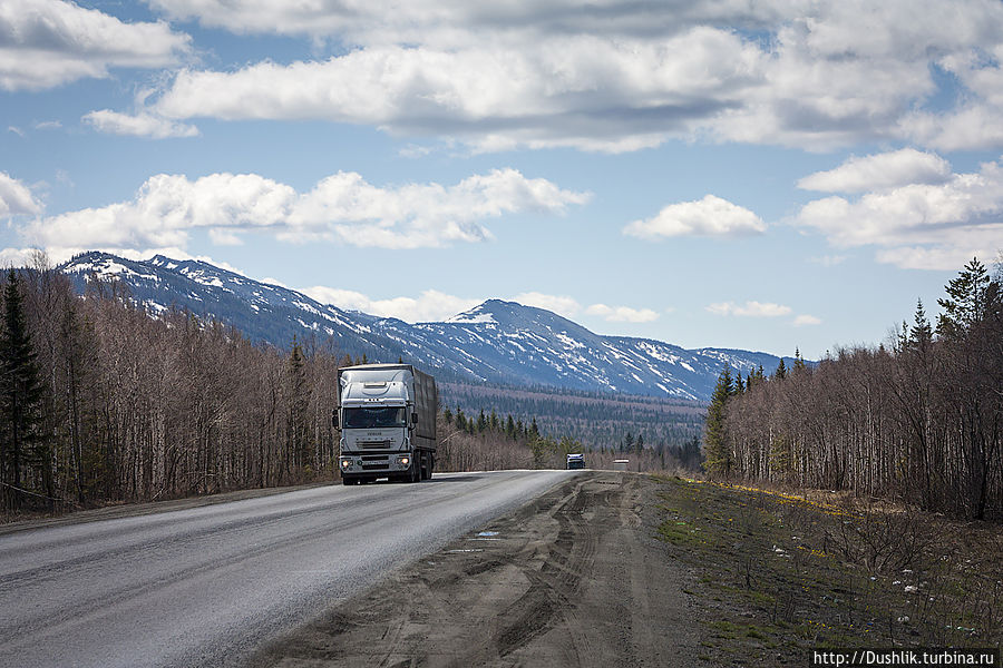
POLYGON ((993 122, 1003 7, 984 0, 150 3, 173 19, 347 48, 327 60, 184 70, 153 102, 175 120, 323 119, 475 150, 624 151, 672 137, 1003 145, 993 122), (925 110, 934 70, 971 94, 945 114, 925 110), (975 129, 955 118, 966 107, 980 115, 975 129))

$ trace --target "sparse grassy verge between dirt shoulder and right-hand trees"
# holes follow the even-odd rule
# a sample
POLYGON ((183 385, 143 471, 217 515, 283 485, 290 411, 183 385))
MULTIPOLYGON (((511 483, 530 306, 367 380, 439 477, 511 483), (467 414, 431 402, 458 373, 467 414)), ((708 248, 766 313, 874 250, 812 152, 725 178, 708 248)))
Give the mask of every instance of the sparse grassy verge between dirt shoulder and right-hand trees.
POLYGON ((851 493, 661 477, 658 537, 689 563, 707 665, 820 647, 999 647, 1003 529, 851 493))

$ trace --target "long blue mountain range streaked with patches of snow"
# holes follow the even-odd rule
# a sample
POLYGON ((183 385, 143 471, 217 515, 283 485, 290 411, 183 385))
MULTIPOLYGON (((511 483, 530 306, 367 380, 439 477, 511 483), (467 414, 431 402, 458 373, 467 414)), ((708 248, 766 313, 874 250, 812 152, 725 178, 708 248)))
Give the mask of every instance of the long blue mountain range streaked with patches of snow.
POLYGON ((152 313, 185 308, 279 347, 289 346, 293 336, 330 338, 353 356, 402 357, 444 380, 707 400, 726 364, 743 373, 761 365, 769 373, 780 362, 767 353, 602 336, 549 311, 499 299, 445 322, 411 325, 320 304, 204 262, 162 255, 135 262, 87 253, 60 269, 81 293, 89 276, 115 277, 152 313))

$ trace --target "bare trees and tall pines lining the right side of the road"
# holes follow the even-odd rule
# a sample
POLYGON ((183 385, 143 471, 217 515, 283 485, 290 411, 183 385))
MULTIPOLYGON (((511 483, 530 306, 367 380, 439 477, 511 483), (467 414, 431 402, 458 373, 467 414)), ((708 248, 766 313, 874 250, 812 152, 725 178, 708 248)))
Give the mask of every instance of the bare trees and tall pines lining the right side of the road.
POLYGON ((970 262, 887 345, 770 376, 726 369, 704 425, 712 477, 853 490, 1003 520, 1003 267, 970 262))

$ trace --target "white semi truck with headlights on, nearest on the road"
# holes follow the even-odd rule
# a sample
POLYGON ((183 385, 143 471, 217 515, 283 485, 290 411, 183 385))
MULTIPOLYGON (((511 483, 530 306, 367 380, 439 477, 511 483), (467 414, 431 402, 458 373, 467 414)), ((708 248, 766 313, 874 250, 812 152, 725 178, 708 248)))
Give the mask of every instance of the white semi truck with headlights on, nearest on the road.
POLYGON ((338 370, 333 416, 341 428, 338 463, 344 484, 418 482, 436 466, 436 380, 410 364, 338 370))

